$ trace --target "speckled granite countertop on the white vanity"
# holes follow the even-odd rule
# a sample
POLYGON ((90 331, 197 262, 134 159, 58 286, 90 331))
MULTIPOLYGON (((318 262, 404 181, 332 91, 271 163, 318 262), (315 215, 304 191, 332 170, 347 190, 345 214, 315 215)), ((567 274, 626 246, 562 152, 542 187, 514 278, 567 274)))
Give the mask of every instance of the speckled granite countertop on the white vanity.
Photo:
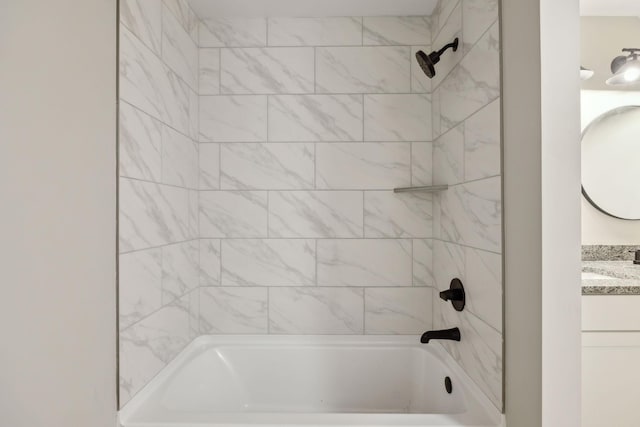
POLYGON ((640 295, 640 265, 583 261, 582 295, 640 295))

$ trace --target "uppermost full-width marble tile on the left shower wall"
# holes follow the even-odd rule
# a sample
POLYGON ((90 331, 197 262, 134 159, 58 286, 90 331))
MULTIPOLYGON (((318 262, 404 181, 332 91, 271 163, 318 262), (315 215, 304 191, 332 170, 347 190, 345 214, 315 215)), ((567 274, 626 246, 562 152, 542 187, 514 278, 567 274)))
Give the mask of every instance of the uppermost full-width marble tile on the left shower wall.
POLYGON ((119 67, 121 99, 190 133, 191 89, 126 28, 120 33, 119 67))

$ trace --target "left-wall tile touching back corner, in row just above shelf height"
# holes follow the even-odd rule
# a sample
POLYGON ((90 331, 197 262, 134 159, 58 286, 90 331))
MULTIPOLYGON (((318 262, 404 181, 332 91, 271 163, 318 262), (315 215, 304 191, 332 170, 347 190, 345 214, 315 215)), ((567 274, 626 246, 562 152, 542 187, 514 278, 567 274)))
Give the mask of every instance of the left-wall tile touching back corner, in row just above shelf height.
POLYGON ((162 130, 162 182, 198 188, 198 144, 167 126, 162 130))

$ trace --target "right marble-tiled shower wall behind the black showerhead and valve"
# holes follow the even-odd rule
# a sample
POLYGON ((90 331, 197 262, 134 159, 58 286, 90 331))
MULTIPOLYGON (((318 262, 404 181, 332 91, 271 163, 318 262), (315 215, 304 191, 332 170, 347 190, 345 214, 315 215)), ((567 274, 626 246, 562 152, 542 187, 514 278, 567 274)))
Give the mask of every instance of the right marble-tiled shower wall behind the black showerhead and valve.
MULTIPOLYGON (((461 329, 444 343, 502 408, 502 180, 500 43, 497 0, 441 0, 432 16, 434 48, 453 38, 432 81, 433 271, 437 290, 459 277, 467 307, 434 303, 434 326, 461 329)), ((434 301, 436 301, 434 297, 434 301)))

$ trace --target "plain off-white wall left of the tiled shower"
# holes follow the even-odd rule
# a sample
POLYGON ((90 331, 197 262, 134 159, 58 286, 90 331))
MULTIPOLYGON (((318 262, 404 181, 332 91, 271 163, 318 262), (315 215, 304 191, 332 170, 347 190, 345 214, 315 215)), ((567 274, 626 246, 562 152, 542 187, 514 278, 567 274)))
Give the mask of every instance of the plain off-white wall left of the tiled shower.
POLYGON ((116 2, 0 3, 0 425, 115 425, 116 2))

